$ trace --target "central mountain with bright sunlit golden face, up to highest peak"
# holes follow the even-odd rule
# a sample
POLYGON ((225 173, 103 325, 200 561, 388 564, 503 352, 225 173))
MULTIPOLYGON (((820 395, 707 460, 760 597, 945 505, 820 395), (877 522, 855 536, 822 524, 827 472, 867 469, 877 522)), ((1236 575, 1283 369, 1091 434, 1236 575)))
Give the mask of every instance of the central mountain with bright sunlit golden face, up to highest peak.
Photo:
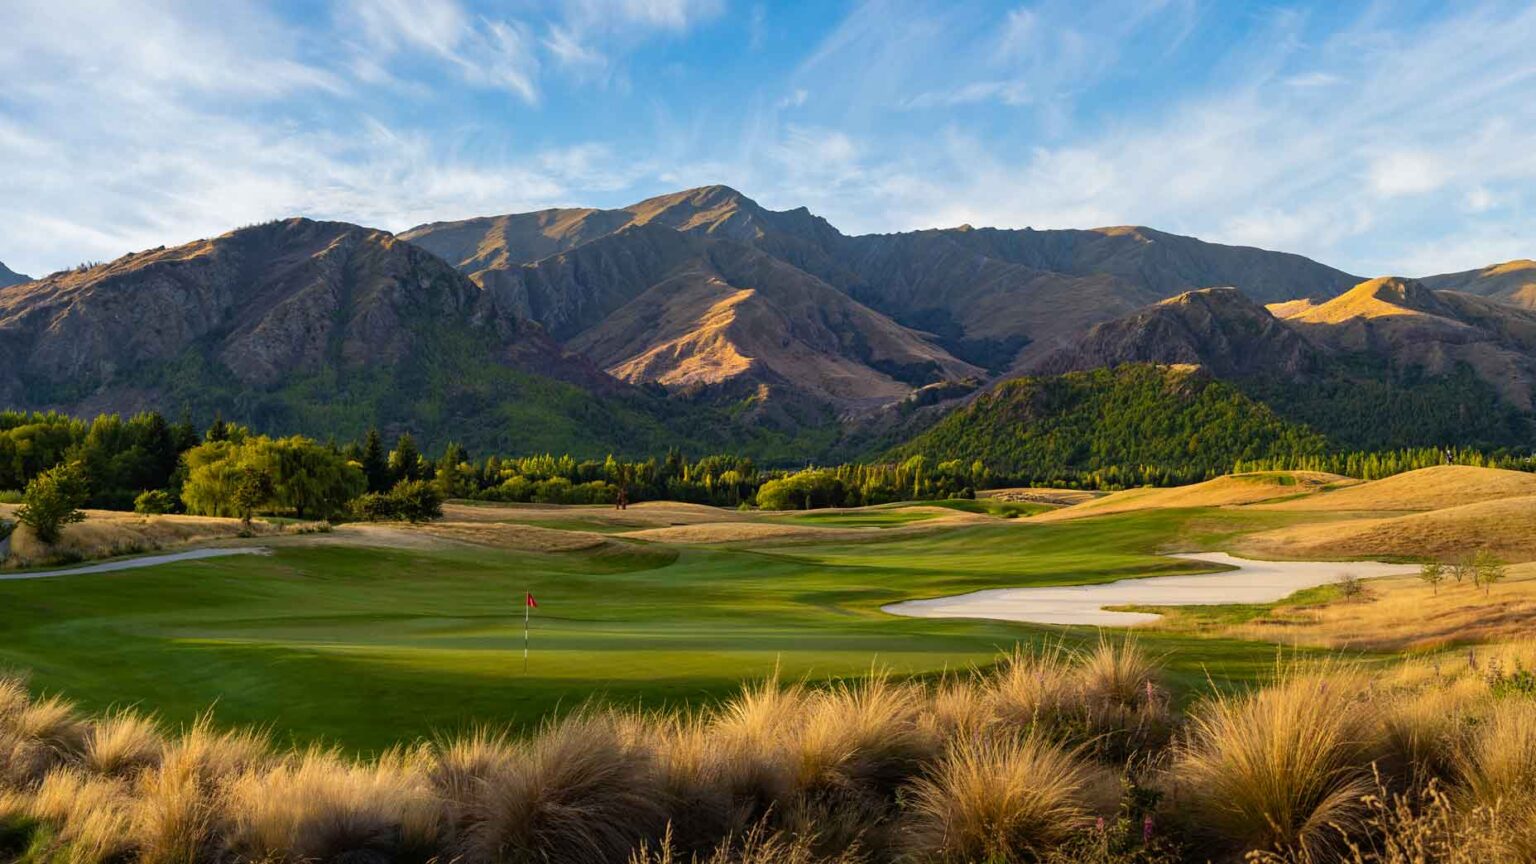
POLYGON ((424 248, 473 252, 464 260, 470 268, 488 263, 472 275, 496 309, 544 323, 637 384, 865 409, 982 374, 786 260, 813 255, 826 231, 809 214, 773 214, 728 189, 705 188, 625 211, 427 226, 409 237, 424 248), (574 240, 599 223, 621 226, 574 240), (542 240, 530 238, 530 226, 542 226, 535 232, 542 240), (467 237, 476 231, 481 241, 472 244, 467 237), (525 251, 562 244, 511 263, 525 251))

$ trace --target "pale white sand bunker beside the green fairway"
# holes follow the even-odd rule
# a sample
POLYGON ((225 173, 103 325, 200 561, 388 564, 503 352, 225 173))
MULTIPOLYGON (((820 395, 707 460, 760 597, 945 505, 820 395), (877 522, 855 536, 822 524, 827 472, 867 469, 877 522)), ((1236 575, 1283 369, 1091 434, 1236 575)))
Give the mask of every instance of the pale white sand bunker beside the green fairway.
POLYGON ((994 618, 1031 624, 1089 624, 1129 627, 1160 616, 1150 612, 1109 612, 1106 606, 1220 606, 1273 603, 1292 593, 1336 581, 1344 573, 1359 578, 1412 573, 1405 564, 1375 561, 1250 561, 1226 552, 1172 555, 1190 561, 1236 567, 1198 577, 1146 577, 1094 586, 1005 587, 934 600, 908 600, 883 606, 892 615, 911 618, 994 618))

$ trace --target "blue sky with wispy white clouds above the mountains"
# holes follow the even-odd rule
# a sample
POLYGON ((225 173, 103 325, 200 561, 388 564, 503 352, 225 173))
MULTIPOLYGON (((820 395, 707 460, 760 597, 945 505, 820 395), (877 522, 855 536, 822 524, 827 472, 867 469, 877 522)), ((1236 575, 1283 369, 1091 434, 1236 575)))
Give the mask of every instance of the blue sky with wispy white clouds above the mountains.
POLYGON ((845 232, 1536 257, 1536 5, 5 0, 0 261, 705 183, 845 232))

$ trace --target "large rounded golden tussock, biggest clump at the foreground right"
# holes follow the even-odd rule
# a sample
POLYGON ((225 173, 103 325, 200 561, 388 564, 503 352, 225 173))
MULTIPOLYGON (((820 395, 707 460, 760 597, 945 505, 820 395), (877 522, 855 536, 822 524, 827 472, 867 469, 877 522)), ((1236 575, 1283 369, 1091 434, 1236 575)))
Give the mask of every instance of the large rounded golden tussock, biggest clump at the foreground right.
POLYGON ((1375 786, 1370 710, 1353 678, 1289 670, 1267 689, 1209 698, 1172 764, 1190 832, 1226 853, 1336 855, 1375 786))

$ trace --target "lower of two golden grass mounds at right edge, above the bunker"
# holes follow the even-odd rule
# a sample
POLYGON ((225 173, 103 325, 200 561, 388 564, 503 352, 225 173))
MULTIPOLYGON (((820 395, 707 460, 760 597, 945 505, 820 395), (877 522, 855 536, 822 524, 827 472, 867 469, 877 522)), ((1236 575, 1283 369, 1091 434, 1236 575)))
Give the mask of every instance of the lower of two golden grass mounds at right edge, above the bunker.
POLYGON ((1501 498, 1405 517, 1301 524, 1244 537, 1238 550, 1261 558, 1433 557, 1487 549, 1536 561, 1536 497, 1501 498))

